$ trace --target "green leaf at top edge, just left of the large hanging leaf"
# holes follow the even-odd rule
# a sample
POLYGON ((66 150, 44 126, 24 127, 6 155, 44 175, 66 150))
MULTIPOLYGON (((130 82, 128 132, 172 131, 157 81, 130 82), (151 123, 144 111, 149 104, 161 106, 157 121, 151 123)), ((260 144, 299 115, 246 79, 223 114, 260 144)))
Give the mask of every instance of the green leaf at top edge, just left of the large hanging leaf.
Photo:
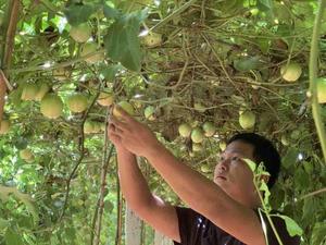
POLYGON ((79 25, 87 22, 96 11, 95 5, 75 3, 67 7, 63 12, 71 25, 79 25))

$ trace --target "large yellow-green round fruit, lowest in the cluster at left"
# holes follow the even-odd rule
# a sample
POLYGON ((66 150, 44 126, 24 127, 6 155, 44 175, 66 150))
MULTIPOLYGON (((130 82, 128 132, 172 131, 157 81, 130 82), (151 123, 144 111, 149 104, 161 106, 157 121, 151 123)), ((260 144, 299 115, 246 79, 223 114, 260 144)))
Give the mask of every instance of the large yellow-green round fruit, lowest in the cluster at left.
POLYGON ((40 102, 41 113, 49 119, 57 119, 62 114, 63 102, 55 94, 46 95, 40 102))

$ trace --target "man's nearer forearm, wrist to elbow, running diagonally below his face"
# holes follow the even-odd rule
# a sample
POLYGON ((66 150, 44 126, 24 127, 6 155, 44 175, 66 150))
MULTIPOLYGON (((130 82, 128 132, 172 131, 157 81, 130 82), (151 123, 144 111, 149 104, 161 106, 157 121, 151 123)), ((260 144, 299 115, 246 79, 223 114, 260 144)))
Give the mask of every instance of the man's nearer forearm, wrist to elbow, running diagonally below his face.
POLYGON ((187 205, 203 215, 223 208, 223 200, 230 198, 214 182, 178 161, 161 144, 146 158, 187 205))

